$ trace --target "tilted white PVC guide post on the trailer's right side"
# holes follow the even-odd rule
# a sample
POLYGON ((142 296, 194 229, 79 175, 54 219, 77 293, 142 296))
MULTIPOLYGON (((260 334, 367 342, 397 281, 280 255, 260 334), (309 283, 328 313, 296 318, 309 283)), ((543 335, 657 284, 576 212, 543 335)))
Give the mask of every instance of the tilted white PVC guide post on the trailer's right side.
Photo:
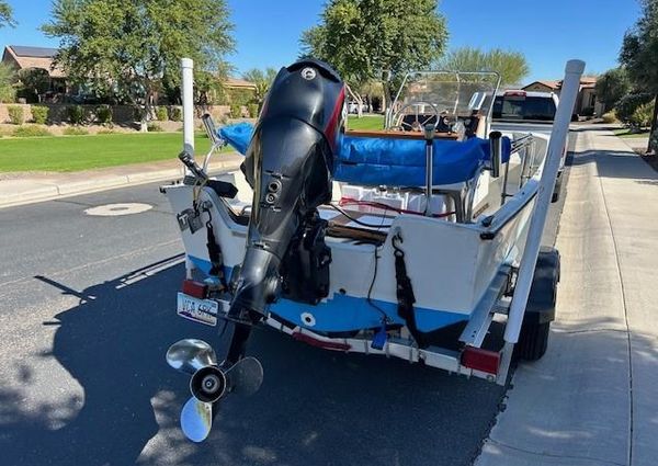
POLYGON ((535 200, 535 206, 530 219, 530 229, 525 242, 525 251, 521 259, 519 268, 519 277, 514 288, 514 297, 504 329, 506 346, 519 341, 523 315, 527 305, 530 287, 534 276, 534 269, 540 253, 542 234, 546 224, 546 214, 551 205, 551 197, 555 187, 555 179, 559 170, 559 161, 569 133, 569 123, 576 98, 580 90, 580 77, 585 71, 585 61, 569 60, 565 69, 565 80, 563 81, 561 92, 559 94, 559 105, 555 114, 555 123, 551 133, 548 150, 546 152, 546 162, 542 172, 540 187, 535 200))

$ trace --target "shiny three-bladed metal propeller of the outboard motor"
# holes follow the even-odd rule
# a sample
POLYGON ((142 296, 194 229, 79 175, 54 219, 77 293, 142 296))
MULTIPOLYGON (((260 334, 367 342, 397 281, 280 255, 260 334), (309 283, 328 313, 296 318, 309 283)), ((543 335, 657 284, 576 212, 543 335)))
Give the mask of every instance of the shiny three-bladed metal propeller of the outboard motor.
POLYGON ((222 367, 213 348, 203 340, 186 339, 172 344, 167 351, 167 363, 192 376, 192 398, 181 411, 181 428, 192 442, 203 442, 208 436, 224 396, 252 395, 263 382, 263 366, 256 357, 243 357, 228 368, 222 367))

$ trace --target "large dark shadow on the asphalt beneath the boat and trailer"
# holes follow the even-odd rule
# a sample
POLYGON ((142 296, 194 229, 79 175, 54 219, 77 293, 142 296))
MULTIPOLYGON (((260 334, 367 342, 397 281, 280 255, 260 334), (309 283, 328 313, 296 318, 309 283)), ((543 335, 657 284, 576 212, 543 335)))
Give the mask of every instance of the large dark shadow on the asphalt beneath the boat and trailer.
POLYGON ((467 465, 478 453, 502 387, 327 352, 269 329, 256 330, 248 350, 265 371, 261 390, 227 399, 209 439, 188 442, 178 429, 188 377, 166 364, 164 352, 181 338, 225 342, 216 329, 175 316, 183 275, 181 264, 136 271, 80 293, 41 277, 80 298, 45 322, 59 328, 44 356, 55 357, 84 397, 26 407, 20 389, 0 388, 2 464, 467 465), (47 422, 55 411, 70 412, 58 428, 47 422))

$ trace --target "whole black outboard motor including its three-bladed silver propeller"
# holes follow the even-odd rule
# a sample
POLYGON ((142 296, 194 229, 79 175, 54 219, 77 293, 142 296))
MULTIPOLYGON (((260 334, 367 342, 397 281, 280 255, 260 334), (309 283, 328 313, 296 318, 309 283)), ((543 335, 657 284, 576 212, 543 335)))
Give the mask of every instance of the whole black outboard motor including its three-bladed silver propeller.
MULTIPOLYGON (((245 346, 268 305, 280 295, 317 304, 329 292, 331 251, 317 207, 331 200, 343 109, 344 86, 321 61, 282 68, 272 83, 241 167, 253 203, 245 260, 231 277, 228 353, 220 362, 209 344, 195 339, 167 351, 168 364, 191 376, 181 427, 194 442, 207 437, 227 394, 259 389, 263 370, 257 359, 245 357, 245 346)), ((193 160, 181 160, 194 169, 193 160)))

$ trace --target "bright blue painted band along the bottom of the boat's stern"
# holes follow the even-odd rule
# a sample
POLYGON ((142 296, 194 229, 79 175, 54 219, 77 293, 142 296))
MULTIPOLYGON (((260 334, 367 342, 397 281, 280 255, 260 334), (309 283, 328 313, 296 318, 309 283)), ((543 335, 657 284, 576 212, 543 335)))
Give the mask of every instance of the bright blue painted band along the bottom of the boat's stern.
MULTIPOLYGON (((194 255, 189 257, 194 266, 204 274, 208 274, 211 263, 194 255)), ((225 268, 226 276, 230 276, 231 269, 225 268)), ((397 303, 379 299, 371 302, 382 309, 393 323, 404 325, 405 321, 397 315, 397 303)), ((415 306, 416 325, 420 331, 429 332, 468 320, 468 315, 450 312, 445 310, 427 309, 415 306)), ((343 332, 351 330, 372 329, 382 326, 382 312, 365 298, 336 293, 330 299, 317 305, 297 303, 290 299, 279 299, 270 306, 270 311, 282 319, 299 327, 318 332, 343 332), (307 326, 302 320, 302 315, 308 312, 315 319, 315 325, 307 326)))

